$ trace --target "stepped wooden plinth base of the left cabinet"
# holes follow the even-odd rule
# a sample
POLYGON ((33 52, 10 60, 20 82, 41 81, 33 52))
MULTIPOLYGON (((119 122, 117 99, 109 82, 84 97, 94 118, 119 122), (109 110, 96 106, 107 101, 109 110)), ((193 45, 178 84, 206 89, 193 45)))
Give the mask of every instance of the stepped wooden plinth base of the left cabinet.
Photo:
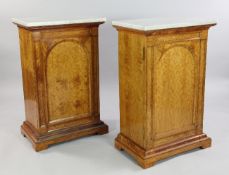
POLYGON ((100 121, 97 124, 59 129, 48 132, 46 135, 37 136, 33 129, 24 122, 21 126, 21 133, 32 142, 33 148, 36 151, 41 151, 56 143, 88 135, 106 134, 108 133, 108 126, 100 121))

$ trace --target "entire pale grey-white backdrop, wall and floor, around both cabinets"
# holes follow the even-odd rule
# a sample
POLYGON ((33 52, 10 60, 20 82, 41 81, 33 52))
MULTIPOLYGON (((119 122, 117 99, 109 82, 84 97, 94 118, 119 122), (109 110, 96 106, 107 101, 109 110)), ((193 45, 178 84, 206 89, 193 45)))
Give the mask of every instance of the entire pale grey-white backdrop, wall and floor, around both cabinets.
POLYGON ((0 1, 0 175, 40 174, 229 174, 228 0, 1 0, 0 1), (18 32, 12 17, 107 17, 100 27, 103 136, 86 137, 36 153, 20 134, 24 102, 18 32), (111 20, 184 17, 215 19, 209 31, 204 130, 209 149, 194 150, 143 170, 113 147, 119 131, 117 32, 111 20))

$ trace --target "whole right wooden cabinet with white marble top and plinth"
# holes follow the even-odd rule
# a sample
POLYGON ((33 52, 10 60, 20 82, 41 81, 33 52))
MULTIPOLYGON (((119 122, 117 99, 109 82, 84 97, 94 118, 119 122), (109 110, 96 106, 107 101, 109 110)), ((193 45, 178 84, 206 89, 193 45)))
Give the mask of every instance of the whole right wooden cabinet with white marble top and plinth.
POLYGON ((194 148, 203 133, 207 36, 214 22, 114 21, 119 41, 118 149, 147 168, 194 148))

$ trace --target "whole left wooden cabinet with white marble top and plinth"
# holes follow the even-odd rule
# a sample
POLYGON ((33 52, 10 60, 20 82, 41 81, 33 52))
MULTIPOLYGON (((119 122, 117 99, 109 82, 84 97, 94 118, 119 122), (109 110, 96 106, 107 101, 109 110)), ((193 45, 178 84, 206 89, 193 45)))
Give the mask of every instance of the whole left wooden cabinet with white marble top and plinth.
POLYGON ((13 20, 25 101, 21 131, 36 151, 108 132, 99 111, 98 26, 104 21, 13 20))

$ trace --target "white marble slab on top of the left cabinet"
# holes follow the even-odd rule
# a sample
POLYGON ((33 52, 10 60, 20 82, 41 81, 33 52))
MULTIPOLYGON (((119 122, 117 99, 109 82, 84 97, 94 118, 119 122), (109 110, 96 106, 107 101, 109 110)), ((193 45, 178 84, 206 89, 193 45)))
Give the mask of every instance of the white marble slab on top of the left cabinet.
POLYGON ((75 19, 45 19, 45 18, 12 18, 13 23, 25 27, 53 26, 67 24, 82 24, 105 22, 106 18, 75 18, 75 19))

